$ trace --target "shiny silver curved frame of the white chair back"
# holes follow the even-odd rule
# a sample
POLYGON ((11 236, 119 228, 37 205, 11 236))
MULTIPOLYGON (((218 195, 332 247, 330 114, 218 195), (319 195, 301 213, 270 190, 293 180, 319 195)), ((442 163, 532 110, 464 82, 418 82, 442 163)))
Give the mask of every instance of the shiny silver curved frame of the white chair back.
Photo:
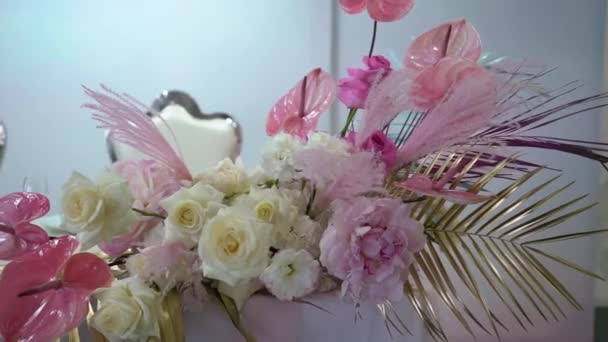
MULTIPOLYGON (((234 135, 237 139, 236 146, 234 150, 230 154, 230 158, 232 160, 236 160, 241 154, 241 148, 243 145, 243 133, 241 129, 241 125, 234 119, 230 114, 227 113, 210 113, 206 114, 200 110, 200 107, 196 103, 196 101, 190 96, 188 93, 180 90, 165 90, 160 96, 152 102, 152 106, 150 107, 150 112, 148 112, 148 116, 155 117, 158 116, 160 112, 162 112, 165 108, 170 105, 178 105, 186 110, 188 114, 198 120, 225 120, 227 124, 232 127, 234 135)), ((116 155, 116 150, 114 149, 114 145, 108 139, 108 133, 106 132, 106 147, 108 150, 108 154, 110 156, 110 160, 112 163, 118 161, 118 157, 116 155)), ((0 156, 1 158, 1 156, 0 156)))

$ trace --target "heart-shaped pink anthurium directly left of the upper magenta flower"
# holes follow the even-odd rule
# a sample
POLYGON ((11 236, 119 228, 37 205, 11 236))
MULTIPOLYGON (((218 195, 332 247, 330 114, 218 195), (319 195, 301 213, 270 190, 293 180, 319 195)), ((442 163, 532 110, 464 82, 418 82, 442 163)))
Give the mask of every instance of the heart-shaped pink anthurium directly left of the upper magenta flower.
POLYGON ((306 139, 335 97, 332 77, 321 68, 312 70, 272 107, 266 134, 273 136, 282 131, 306 139))

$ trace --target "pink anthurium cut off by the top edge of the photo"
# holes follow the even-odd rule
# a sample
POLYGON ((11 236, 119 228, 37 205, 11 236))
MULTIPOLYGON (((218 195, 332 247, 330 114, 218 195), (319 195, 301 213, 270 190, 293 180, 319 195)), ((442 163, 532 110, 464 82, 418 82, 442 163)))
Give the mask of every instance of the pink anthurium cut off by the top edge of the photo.
POLYGON ((399 20, 414 7, 414 0, 338 0, 338 3, 348 14, 367 8, 372 19, 384 22, 399 20))

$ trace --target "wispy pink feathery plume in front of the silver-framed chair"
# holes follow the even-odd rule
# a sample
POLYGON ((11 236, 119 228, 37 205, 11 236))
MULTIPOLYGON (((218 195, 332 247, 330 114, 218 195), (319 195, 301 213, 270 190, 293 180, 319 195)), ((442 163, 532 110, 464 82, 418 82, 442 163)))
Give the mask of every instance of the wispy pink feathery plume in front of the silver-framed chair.
POLYGON ((146 106, 104 85, 101 88, 106 94, 83 88, 85 94, 96 102, 86 103, 83 107, 96 112, 93 118, 100 122, 99 128, 109 130, 111 140, 129 145, 174 170, 179 180, 192 180, 183 158, 146 114, 146 106))

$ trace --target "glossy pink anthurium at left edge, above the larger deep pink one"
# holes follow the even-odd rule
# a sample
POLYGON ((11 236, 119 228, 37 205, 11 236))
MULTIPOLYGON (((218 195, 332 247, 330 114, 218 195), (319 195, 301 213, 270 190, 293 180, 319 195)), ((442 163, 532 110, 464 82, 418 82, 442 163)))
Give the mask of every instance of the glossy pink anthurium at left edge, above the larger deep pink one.
POLYGON ((49 200, 33 192, 14 192, 0 198, 0 260, 19 257, 47 242, 47 233, 31 221, 44 216, 49 200))

